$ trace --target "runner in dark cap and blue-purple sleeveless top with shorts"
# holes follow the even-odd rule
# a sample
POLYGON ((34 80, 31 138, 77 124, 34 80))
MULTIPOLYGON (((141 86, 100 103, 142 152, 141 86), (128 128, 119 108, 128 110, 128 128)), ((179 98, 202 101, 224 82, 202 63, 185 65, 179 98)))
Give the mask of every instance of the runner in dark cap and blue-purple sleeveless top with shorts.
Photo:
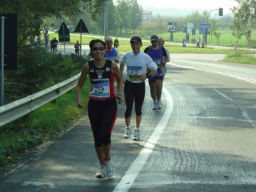
MULTIPOLYGON (((154 77, 148 78, 148 84, 150 86, 150 95, 153 99, 153 110, 162 109, 161 106, 161 96, 162 96, 162 88, 163 88, 163 70, 165 67, 167 54, 164 47, 161 47, 157 44, 158 37, 156 35, 152 35, 150 37, 151 46, 146 47, 144 52, 152 58, 152 60, 157 65, 157 75, 154 77)), ((150 70, 148 70, 150 72, 150 70)))

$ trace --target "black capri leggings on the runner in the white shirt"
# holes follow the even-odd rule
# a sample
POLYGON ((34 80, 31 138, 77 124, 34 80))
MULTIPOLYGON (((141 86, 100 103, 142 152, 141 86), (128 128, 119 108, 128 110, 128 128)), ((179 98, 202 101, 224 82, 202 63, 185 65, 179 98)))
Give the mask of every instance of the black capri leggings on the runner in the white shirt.
POLYGON ((130 81, 125 81, 124 86, 124 96, 126 109, 124 116, 130 117, 132 115, 133 102, 135 103, 135 113, 137 116, 142 114, 141 108, 145 98, 145 82, 142 83, 131 83, 130 81))

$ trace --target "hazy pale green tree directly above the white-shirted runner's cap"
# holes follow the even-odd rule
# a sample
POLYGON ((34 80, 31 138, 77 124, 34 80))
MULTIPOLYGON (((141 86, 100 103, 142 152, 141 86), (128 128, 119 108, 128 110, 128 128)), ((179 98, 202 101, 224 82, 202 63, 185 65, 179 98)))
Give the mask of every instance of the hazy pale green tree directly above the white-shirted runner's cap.
POLYGON ((129 1, 129 19, 130 26, 135 33, 135 29, 141 26, 142 20, 142 7, 138 4, 137 0, 129 1))

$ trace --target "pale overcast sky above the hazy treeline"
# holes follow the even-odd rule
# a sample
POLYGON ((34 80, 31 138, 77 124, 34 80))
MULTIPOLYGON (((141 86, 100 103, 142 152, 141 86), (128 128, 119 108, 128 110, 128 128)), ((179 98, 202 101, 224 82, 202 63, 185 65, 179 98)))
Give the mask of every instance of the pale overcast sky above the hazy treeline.
MULTIPOLYGON (((114 0, 115 1, 115 0, 114 0)), ((223 13, 230 13, 228 8, 237 6, 237 3, 233 0, 137 0, 138 4, 144 6, 156 6, 156 7, 193 7, 193 8, 223 8, 223 13)))

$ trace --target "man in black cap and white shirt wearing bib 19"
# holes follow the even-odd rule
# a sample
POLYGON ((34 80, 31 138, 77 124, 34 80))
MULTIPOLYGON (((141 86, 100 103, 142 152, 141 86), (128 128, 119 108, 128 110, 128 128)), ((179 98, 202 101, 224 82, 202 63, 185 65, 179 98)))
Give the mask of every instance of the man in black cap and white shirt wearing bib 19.
POLYGON ((145 98, 145 80, 154 77, 157 74, 157 65, 152 61, 150 56, 141 52, 142 41, 139 36, 133 36, 130 40, 132 51, 126 52, 121 58, 120 72, 124 71, 126 65, 127 75, 124 85, 125 95, 125 133, 124 138, 131 136, 131 115, 133 102, 135 104, 136 127, 134 129, 133 140, 140 140, 140 123, 142 117, 141 108, 145 98), (150 68, 151 72, 147 72, 150 68))

